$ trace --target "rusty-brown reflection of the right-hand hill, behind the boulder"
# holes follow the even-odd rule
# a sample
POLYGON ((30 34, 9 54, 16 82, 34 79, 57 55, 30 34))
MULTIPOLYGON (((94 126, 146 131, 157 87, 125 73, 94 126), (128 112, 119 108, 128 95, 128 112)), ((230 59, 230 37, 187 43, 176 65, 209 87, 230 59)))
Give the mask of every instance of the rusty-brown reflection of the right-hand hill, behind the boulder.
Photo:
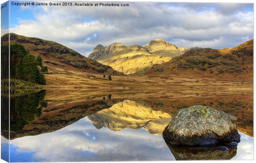
POLYGON ((178 109, 194 106, 210 106, 236 116, 238 130, 253 137, 253 96, 252 94, 207 95, 204 93, 172 93, 172 98, 143 99, 154 110, 160 110, 173 116, 178 109), (227 98, 228 97, 228 98, 227 98))

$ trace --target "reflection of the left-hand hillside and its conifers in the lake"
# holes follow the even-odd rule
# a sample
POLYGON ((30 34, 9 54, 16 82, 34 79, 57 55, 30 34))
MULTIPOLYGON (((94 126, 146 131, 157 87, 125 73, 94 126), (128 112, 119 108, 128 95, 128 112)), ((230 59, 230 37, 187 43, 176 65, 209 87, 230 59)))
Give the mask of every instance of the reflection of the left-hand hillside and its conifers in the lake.
MULTIPOLYGON (((43 101, 41 92, 14 97, 10 106, 10 139, 59 130, 117 102, 119 99, 110 97, 73 103, 43 101)), ((8 126, 2 129, 7 130, 8 126)), ((1 134, 7 137, 5 130, 1 130, 1 134)))

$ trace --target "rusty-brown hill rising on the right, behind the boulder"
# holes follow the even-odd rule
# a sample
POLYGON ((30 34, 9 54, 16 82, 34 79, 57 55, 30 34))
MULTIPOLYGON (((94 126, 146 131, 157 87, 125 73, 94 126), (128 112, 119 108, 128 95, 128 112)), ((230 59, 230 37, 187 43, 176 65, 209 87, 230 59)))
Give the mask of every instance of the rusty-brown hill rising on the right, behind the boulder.
POLYGON ((171 75, 192 78, 253 79, 253 40, 232 49, 196 48, 156 64, 145 72, 149 76, 171 75))

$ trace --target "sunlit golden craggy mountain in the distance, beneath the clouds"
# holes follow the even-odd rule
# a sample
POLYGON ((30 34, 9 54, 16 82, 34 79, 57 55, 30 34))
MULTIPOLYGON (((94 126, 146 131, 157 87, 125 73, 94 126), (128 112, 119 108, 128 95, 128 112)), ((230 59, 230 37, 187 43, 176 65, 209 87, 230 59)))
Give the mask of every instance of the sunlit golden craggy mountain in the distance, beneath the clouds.
POLYGON ((145 46, 128 46, 121 43, 112 43, 106 47, 97 45, 88 58, 109 65, 116 71, 131 74, 143 72, 154 64, 162 64, 183 53, 184 48, 179 49, 176 45, 159 38, 145 46))

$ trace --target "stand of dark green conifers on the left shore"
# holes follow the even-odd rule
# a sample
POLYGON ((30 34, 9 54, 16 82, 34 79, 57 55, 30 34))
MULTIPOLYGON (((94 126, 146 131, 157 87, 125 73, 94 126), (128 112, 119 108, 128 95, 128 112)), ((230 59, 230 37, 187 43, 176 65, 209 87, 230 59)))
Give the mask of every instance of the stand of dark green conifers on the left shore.
MULTIPOLYGON (((10 58, 7 57, 9 56, 8 50, 8 45, 1 45, 2 59, 4 59, 2 62, 8 63, 8 59, 10 59, 10 78, 45 85, 46 80, 43 73, 48 70, 47 66, 42 65, 43 60, 40 56, 35 57, 29 54, 23 45, 17 43, 10 45, 10 58)), ((7 77, 8 66, 7 68, 3 67, 2 71, 4 72, 1 74, 1 77, 7 77)))

